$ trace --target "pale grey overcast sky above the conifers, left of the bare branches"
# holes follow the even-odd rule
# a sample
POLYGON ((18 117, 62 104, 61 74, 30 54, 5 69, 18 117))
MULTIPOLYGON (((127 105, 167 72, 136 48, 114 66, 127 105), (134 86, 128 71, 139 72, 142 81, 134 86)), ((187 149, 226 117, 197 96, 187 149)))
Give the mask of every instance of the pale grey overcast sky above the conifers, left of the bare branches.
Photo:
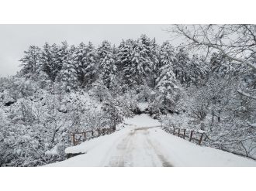
POLYGON ((122 39, 137 39, 141 34, 155 37, 157 43, 171 39, 164 31, 169 25, 0 25, 0 77, 16 74, 19 59, 30 45, 45 42, 68 44, 91 41, 98 46, 102 40, 119 44, 122 39))

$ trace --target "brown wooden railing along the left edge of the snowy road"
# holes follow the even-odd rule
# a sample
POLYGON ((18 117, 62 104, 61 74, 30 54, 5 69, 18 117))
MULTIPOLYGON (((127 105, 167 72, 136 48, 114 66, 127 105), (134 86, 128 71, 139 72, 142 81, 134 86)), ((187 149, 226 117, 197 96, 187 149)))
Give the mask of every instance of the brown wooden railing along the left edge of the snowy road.
POLYGON ((101 135, 109 135, 114 132, 115 128, 97 128, 95 130, 74 132, 71 133, 71 140, 73 145, 78 145, 80 142, 85 142, 91 138, 98 138, 101 135))

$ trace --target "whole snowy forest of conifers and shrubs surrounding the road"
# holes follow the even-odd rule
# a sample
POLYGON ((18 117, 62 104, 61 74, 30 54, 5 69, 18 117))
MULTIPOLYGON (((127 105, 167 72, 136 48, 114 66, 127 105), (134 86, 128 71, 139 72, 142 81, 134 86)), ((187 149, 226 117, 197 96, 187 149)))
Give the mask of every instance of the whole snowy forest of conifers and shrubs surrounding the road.
MULTIPOLYGON (((256 63, 255 44, 247 63, 256 63)), ((164 125, 205 131, 204 145, 256 159, 255 69, 220 46, 201 43, 213 48, 205 56, 191 45, 141 35, 118 46, 29 46, 21 70, 0 79, 0 166, 64 160, 71 132, 116 127, 141 102, 164 125)))

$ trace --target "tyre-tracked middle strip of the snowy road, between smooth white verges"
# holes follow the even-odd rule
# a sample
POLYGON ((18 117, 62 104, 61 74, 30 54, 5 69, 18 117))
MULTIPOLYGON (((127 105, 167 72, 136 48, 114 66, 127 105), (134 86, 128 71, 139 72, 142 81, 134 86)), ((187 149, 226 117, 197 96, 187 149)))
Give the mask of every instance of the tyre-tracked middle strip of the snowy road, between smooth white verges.
POLYGON ((149 134, 150 128, 130 130, 106 157, 104 166, 172 166, 164 153, 154 147, 149 134))

